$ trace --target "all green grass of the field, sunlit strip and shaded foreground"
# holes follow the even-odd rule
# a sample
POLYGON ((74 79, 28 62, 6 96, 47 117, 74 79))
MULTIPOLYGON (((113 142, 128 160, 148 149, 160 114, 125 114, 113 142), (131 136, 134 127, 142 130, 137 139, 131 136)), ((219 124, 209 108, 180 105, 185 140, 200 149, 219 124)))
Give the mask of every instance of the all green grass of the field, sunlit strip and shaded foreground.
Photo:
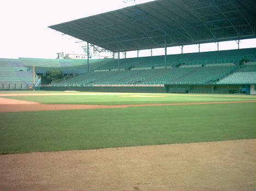
MULTIPOLYGON (((76 92, 73 93, 76 94, 76 92)), ((48 104, 144 104, 255 100, 255 96, 239 95, 141 93, 5 98, 48 104), (119 97, 134 95, 164 97, 119 97)), ((255 103, 0 113, 1 154, 252 138, 255 138, 255 103)))

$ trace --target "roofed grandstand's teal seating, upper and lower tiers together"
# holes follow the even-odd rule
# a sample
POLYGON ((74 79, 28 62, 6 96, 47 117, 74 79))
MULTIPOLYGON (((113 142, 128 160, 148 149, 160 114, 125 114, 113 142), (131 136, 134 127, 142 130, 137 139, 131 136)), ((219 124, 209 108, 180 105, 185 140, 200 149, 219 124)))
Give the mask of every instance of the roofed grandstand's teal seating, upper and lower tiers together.
MULTIPOLYGON (((90 71, 62 82, 210 83, 233 73, 241 63, 255 62, 255 57, 255 48, 167 55, 167 68, 164 67, 164 56, 127 58, 120 59, 120 70, 117 59, 104 59, 92 64, 97 72, 90 71)), ((251 64, 240 72, 255 70, 255 65, 251 64)))

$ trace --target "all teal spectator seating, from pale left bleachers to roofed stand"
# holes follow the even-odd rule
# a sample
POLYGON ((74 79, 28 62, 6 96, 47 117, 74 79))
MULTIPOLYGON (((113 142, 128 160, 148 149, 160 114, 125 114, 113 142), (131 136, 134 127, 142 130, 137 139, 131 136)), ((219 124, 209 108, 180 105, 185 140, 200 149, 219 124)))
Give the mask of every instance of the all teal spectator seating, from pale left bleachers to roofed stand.
MULTIPOLYGON (((154 85, 255 83, 256 49, 186 53, 164 56, 120 59, 0 59, 0 83, 32 81, 36 73, 59 69, 63 74, 76 74, 50 86, 154 85), (80 75, 78 75, 80 74, 80 75)), ((0 88, 5 85, 0 85, 0 88)), ((7 85, 8 87, 10 85, 7 85)))

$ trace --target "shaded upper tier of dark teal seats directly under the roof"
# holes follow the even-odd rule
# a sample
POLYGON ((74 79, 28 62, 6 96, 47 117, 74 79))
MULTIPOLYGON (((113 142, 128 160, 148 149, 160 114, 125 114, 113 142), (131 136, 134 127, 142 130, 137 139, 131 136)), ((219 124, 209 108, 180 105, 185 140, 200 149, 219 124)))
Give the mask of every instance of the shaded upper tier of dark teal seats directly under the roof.
MULTIPOLYGON (((216 64, 235 65, 242 59, 255 60, 255 48, 240 50, 224 50, 212 52, 185 53, 179 55, 167 55, 167 66, 175 67, 180 64, 181 67, 199 67, 201 65, 214 66, 216 64)), ((120 59, 120 68, 159 68, 164 67, 164 56, 139 57, 120 59)), ((112 70, 118 68, 117 59, 101 61, 99 67, 95 70, 112 70)))

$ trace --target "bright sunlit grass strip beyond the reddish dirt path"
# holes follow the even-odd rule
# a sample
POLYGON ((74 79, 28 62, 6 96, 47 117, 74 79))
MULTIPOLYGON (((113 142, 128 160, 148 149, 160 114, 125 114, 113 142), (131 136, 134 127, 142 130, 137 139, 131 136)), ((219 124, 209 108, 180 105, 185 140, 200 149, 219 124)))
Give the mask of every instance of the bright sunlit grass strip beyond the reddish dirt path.
MULTIPOLYGON (((37 91, 36 91, 37 92, 37 91)), ((41 92, 48 93, 48 92, 41 92)), ((53 92, 49 92, 53 93, 53 92)), ((62 92, 63 93, 63 92, 62 92)), ((65 92, 67 93, 67 92, 65 92)), ((65 94, 64 93, 64 94, 65 94)), ((39 102, 44 104, 153 104, 153 103, 190 103, 190 102, 232 102, 255 100, 255 96, 247 95, 213 95, 213 94, 168 94, 168 93, 116 93, 116 94, 84 94, 79 95, 54 95, 54 96, 8 96, 6 98, 39 102), (124 97, 125 96, 125 97, 124 97), (144 96, 144 97, 134 97, 144 96), (162 97, 152 97, 162 96, 162 97)), ((81 92, 80 92, 81 93, 81 92)))

